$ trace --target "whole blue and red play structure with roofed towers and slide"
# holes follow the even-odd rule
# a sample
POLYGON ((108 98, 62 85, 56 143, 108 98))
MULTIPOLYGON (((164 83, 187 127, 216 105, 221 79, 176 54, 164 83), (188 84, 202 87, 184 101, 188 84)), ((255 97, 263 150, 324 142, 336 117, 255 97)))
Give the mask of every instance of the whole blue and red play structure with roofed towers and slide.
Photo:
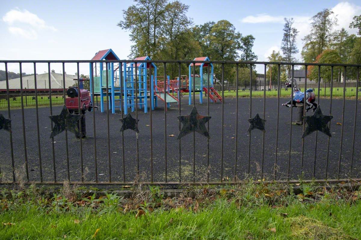
MULTIPOLYGON (((119 60, 118 56, 112 49, 98 51, 91 60, 97 60, 99 63, 90 64, 90 79, 93 79, 94 90, 92 89, 92 82, 90 82, 91 94, 100 96, 100 110, 104 112, 104 102, 108 90, 108 99, 106 100, 109 110, 115 113, 116 110, 121 110, 122 104, 124 107, 124 114, 127 114, 129 108, 134 112, 135 106, 139 109, 144 109, 144 113, 148 111, 148 99, 150 108, 152 110, 158 107, 158 100, 166 102, 167 108, 170 108, 171 103, 177 103, 182 96, 189 92, 189 104, 191 104, 192 83, 195 81, 195 91, 200 92, 200 103, 203 103, 202 95, 209 94, 209 98, 216 102, 222 101, 221 96, 213 87, 213 64, 210 65, 210 73, 204 74, 204 67, 208 64, 196 63, 199 66, 199 75, 191 74, 192 64, 189 65, 189 78, 186 75, 173 80, 170 76, 166 78, 157 76, 157 66, 154 63, 138 63, 139 60, 151 60, 149 56, 142 56, 135 58, 134 62, 122 63, 102 63, 103 60, 119 60), (136 66, 135 66, 136 64, 136 66), (99 70, 98 70, 99 69, 99 70), (108 76, 107 76, 108 74, 108 76), (210 76, 210 80, 208 80, 210 76), (108 79, 108 80, 107 80, 108 79), (106 82, 108 81, 108 86, 106 82), (209 93, 208 93, 208 81, 209 93), (122 98, 121 98, 122 96, 122 98), (121 102, 122 99, 122 102, 121 102)), ((209 60, 208 57, 195 58, 194 60, 209 60)))

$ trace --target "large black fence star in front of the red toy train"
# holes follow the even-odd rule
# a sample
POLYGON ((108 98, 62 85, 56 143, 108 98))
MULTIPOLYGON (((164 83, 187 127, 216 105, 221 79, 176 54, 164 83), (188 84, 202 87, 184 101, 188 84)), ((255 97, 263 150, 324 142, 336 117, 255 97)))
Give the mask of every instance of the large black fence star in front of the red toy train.
POLYGON ((53 130, 51 131, 50 138, 55 137, 64 130, 68 130, 72 133, 79 134, 78 121, 81 119, 79 114, 70 114, 65 105, 59 115, 49 116, 51 121, 55 123, 53 130))

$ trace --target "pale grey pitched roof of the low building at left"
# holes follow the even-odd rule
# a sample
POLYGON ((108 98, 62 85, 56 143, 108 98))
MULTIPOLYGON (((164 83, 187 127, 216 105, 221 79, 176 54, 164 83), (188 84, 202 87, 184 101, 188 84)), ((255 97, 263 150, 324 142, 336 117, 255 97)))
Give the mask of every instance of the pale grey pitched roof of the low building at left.
MULTIPOLYGON (((65 87, 73 86, 75 81, 74 78, 77 78, 76 75, 65 74, 65 87)), ((35 89, 34 75, 24 76, 23 80, 23 89, 35 89)), ((63 74, 56 73, 51 71, 50 73, 50 83, 52 89, 62 89, 63 88, 63 74)), ((49 89, 49 75, 48 73, 42 73, 36 75, 36 87, 37 89, 49 89)), ((0 89, 6 89, 6 81, 0 82, 0 89)), ((9 89, 20 89, 20 78, 14 78, 9 80, 9 89)))

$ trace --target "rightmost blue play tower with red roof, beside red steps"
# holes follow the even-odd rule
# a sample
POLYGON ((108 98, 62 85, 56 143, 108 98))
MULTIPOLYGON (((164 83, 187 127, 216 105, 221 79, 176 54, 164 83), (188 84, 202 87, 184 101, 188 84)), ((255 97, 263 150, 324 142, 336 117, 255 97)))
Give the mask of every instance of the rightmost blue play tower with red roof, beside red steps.
MULTIPOLYGON (((193 59, 194 61, 210 61, 210 59, 208 57, 200 57, 200 58, 195 58, 193 59)), ((213 87, 213 64, 209 64, 210 65, 210 87, 213 87)), ((199 66, 199 73, 200 73, 200 88, 199 90, 196 89, 196 91, 200 91, 199 94, 199 103, 203 103, 203 67, 208 67, 208 63, 196 63, 195 66, 199 66)), ((188 95, 188 104, 191 105, 192 104, 192 94, 193 94, 193 81, 192 81, 192 67, 193 67, 193 63, 189 64, 189 95, 188 95)), ((195 76, 194 76, 195 77, 195 76)), ((207 87, 207 86, 205 86, 207 87)), ((212 100, 211 100, 212 101, 212 100)))

